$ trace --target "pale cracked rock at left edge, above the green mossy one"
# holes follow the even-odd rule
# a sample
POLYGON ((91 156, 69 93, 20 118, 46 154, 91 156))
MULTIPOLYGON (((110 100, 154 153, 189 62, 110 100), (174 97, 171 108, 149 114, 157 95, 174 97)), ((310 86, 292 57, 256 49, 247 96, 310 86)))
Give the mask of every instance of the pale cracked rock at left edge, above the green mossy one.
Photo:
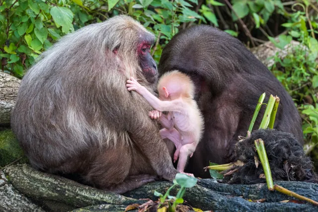
POLYGON ((21 80, 10 74, 0 72, 0 125, 10 125, 11 111, 21 80))

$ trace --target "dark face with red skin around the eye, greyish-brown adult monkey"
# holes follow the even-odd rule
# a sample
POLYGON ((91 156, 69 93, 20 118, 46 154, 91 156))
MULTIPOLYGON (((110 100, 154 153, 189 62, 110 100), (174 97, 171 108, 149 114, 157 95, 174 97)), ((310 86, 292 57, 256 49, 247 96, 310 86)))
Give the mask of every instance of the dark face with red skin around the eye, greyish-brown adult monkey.
POLYGON ((150 54, 150 48, 154 43, 153 39, 145 39, 138 45, 139 64, 149 83, 155 83, 158 79, 158 71, 155 60, 150 54))

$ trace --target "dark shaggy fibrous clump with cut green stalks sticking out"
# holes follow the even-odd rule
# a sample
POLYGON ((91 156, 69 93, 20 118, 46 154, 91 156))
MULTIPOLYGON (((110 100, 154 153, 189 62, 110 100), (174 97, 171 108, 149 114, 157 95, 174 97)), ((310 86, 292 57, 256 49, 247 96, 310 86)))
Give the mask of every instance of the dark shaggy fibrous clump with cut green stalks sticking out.
MULTIPOLYGON (((238 160, 245 165, 239 167, 233 175, 225 176, 223 182, 241 184, 266 182, 265 179, 259 178, 259 175, 264 173, 261 163, 259 162, 258 168, 255 166, 254 156, 258 157, 258 154, 254 141, 257 139, 264 141, 273 180, 318 182, 317 175, 313 171, 313 162, 305 155, 303 146, 295 136, 271 129, 256 130, 251 137, 236 144, 238 160), (287 171, 284 161, 288 163, 287 171)), ((238 167, 232 170, 235 168, 238 167)))

